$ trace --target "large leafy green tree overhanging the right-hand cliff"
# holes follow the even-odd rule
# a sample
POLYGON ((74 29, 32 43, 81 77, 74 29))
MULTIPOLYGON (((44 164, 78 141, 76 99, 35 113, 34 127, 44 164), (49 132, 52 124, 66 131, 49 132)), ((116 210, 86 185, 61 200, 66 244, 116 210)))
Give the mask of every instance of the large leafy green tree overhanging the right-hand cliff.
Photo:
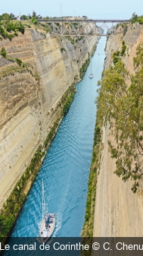
POLYGON ((135 75, 130 75, 121 62, 104 71, 98 96, 98 120, 101 125, 110 124, 113 141, 108 141, 111 156, 115 159, 115 173, 124 182, 134 180, 135 193, 142 175, 143 156, 143 44, 134 58, 135 75), (126 81, 131 81, 130 85, 126 81))

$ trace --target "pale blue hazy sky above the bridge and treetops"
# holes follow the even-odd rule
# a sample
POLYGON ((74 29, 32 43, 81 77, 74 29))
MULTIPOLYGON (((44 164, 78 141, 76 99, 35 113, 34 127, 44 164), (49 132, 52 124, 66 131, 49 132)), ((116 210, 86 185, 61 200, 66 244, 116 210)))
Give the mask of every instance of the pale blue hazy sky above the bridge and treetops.
POLYGON ((0 0, 0 14, 41 14, 43 17, 87 16, 130 18, 135 11, 143 15, 143 0, 0 0))

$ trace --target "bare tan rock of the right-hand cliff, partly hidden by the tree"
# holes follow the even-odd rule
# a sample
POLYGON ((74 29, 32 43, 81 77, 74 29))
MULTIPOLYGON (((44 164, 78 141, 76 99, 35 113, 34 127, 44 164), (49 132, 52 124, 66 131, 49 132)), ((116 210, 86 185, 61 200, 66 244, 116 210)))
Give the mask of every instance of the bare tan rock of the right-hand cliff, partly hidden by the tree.
MULTIPOLYGON (((132 58, 139 43, 143 43, 143 28, 140 24, 129 25, 126 34, 122 27, 118 27, 117 35, 107 40, 105 69, 113 62, 113 52, 122 49, 122 41, 127 46, 126 55, 122 61, 127 70, 134 74, 132 58)), ((107 141, 113 139, 110 129, 104 128, 102 142, 101 169, 98 175, 98 184, 95 201, 95 223, 93 236, 142 236, 143 230, 143 197, 141 190, 133 194, 132 181, 123 182, 113 172, 116 161, 111 159, 107 141)))

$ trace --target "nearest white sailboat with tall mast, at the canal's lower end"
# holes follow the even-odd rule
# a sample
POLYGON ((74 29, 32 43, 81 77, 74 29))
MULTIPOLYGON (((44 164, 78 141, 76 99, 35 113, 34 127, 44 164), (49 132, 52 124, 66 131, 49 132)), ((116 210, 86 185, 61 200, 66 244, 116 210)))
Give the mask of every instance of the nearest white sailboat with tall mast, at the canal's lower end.
POLYGON ((42 179, 42 223, 40 227, 40 236, 41 242, 47 242, 54 232, 55 227, 55 214, 48 213, 45 211, 45 191, 44 191, 44 182, 42 179))

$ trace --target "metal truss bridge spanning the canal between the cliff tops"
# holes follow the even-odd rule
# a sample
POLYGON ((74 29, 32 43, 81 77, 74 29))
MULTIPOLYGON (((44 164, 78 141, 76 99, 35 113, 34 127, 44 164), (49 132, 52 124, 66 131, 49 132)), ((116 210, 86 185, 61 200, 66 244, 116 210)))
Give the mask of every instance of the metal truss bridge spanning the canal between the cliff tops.
POLYGON ((54 35, 59 36, 110 36, 115 24, 131 21, 128 19, 39 19, 39 24, 48 27, 54 35), (99 25, 97 25, 99 24, 99 25), (110 33, 109 33, 110 30, 110 33), (106 31, 106 33, 104 33, 106 31))

